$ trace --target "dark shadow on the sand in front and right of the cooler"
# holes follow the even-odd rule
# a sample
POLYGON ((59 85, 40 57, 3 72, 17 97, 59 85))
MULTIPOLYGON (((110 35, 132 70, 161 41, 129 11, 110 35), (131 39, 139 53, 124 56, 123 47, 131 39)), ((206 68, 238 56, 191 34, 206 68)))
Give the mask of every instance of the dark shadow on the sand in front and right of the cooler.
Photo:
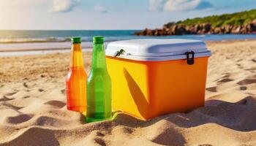
MULTIPOLYGON (((155 137, 152 142, 161 145, 184 145, 186 139, 177 128, 192 128, 215 123, 236 131, 256 130, 256 97, 247 96, 236 103, 219 100, 206 101, 205 107, 200 107, 186 113, 162 115, 151 120, 143 121, 129 115, 119 114, 116 118, 118 125, 145 128, 159 122, 169 125, 165 131, 155 137)), ((161 125, 162 126, 162 125, 161 125)))

